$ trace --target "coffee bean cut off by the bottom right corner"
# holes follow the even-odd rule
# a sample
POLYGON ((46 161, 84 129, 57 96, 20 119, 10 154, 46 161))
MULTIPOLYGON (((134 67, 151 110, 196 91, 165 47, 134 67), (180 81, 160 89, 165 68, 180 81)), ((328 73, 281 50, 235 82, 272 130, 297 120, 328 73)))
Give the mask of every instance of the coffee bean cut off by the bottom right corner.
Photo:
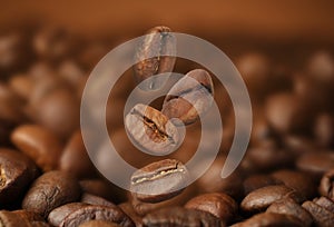
POLYGON ((305 201, 302 206, 312 215, 313 220, 317 226, 334 226, 334 214, 326 208, 323 208, 313 201, 305 201))

